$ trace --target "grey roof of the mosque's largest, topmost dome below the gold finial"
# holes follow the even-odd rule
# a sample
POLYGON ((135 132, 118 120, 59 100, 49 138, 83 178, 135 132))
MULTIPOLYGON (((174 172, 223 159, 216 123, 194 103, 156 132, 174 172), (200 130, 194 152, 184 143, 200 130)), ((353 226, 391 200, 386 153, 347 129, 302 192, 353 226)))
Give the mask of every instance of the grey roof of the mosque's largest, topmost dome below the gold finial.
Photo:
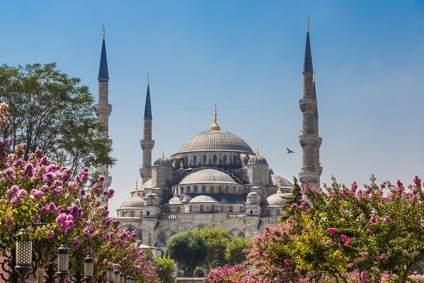
POLYGON ((177 154, 193 151, 241 151, 253 154, 252 149, 245 141, 235 134, 223 130, 196 134, 179 148, 177 154))

